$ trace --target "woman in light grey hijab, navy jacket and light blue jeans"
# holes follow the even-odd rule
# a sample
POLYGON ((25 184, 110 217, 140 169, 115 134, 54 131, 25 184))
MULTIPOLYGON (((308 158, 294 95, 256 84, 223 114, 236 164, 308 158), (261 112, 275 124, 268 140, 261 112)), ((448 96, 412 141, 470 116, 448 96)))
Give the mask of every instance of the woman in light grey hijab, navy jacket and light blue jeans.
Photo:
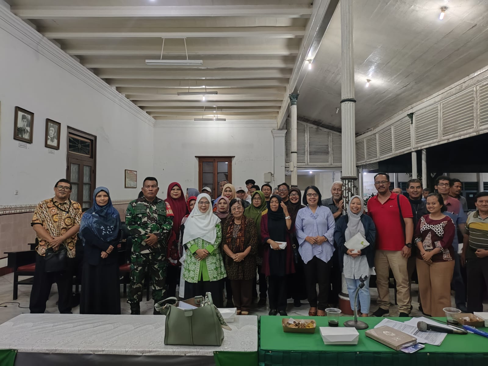
POLYGON ((368 316, 371 296, 369 294, 369 277, 374 266, 374 239, 376 228, 371 217, 364 213, 364 203, 360 196, 352 196, 347 206, 347 216, 337 220, 334 231, 334 243, 339 250, 340 270, 344 269, 344 277, 347 283, 347 292, 354 310, 354 294, 358 288, 361 276, 367 276, 365 287, 359 290, 360 310, 358 315, 368 316), (369 243, 366 248, 358 250, 346 248, 354 235, 361 235, 369 243))

